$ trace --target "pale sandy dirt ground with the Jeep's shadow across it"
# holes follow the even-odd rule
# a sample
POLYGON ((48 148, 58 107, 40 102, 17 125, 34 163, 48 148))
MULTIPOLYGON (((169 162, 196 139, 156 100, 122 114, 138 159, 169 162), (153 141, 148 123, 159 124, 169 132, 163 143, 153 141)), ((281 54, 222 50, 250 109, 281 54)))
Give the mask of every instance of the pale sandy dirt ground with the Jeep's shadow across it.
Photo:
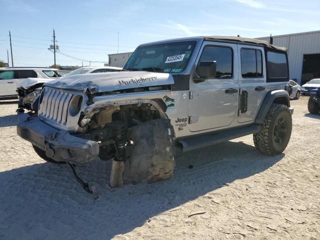
POLYGON ((16 102, 1 101, 0 239, 320 239, 320 115, 307 99, 291 101, 278 156, 248 135, 179 153, 173 179, 117 189, 110 162, 76 167, 97 200, 16 135, 16 102))

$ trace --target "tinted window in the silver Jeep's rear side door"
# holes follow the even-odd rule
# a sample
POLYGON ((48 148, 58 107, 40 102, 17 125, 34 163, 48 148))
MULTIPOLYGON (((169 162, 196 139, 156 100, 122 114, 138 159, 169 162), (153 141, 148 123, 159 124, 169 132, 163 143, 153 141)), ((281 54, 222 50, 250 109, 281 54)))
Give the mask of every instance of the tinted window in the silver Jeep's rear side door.
POLYGON ((241 48, 242 77, 262 76, 262 53, 260 50, 241 48))

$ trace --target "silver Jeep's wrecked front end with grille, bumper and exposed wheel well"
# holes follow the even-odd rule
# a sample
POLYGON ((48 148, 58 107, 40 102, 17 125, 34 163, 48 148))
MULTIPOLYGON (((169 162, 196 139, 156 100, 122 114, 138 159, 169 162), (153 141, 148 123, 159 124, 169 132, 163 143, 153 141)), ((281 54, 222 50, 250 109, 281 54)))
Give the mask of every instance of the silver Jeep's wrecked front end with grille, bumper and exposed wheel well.
POLYGON ((154 182, 172 177, 174 134, 165 114, 169 104, 163 100, 173 83, 171 75, 135 77, 126 80, 127 84, 124 80, 107 81, 112 85, 109 91, 92 82, 84 82, 89 84, 85 86, 75 81, 72 84, 76 86, 69 90, 66 82, 44 85, 34 100, 38 105, 31 108, 35 113, 18 115, 19 136, 56 162, 86 163, 97 156, 112 159, 112 187, 121 186, 124 178, 127 182, 154 182), (142 79, 148 82, 141 84, 142 79), (136 133, 142 129, 148 133, 136 133), (153 152, 154 142, 163 142, 163 155, 159 155, 161 150, 153 152), (144 147, 148 150, 141 151, 144 147))

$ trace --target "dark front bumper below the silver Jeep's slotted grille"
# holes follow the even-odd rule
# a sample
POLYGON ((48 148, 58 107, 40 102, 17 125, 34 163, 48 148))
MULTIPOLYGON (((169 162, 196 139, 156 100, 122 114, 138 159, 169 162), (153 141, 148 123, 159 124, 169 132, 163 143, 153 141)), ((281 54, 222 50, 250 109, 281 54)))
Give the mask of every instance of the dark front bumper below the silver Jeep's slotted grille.
POLYGON ((44 150, 55 161, 86 163, 99 154, 96 141, 56 129, 28 113, 18 114, 17 134, 44 150))

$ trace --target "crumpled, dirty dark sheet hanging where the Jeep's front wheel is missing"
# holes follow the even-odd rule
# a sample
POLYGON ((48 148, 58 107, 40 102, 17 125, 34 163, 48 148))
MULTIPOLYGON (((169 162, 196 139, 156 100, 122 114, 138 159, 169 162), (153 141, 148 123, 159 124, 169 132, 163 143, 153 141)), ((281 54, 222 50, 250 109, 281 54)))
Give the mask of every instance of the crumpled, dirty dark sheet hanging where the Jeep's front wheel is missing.
POLYGON ((152 183, 173 177, 174 131, 170 120, 145 121, 129 128, 128 134, 133 150, 124 162, 124 183, 152 183))

